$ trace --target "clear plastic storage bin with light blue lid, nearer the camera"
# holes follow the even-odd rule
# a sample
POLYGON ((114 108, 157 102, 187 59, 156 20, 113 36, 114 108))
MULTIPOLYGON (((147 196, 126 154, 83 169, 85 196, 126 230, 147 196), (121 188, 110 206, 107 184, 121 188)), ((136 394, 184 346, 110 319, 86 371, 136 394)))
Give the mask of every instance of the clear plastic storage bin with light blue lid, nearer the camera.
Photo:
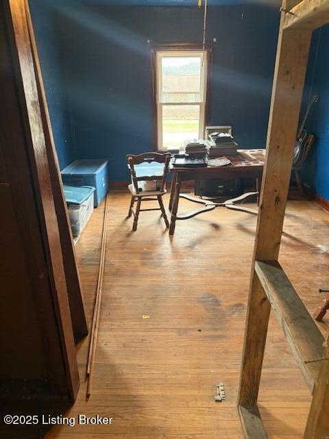
POLYGON ((81 234, 93 213, 94 192, 95 187, 64 185, 64 194, 74 237, 81 234))

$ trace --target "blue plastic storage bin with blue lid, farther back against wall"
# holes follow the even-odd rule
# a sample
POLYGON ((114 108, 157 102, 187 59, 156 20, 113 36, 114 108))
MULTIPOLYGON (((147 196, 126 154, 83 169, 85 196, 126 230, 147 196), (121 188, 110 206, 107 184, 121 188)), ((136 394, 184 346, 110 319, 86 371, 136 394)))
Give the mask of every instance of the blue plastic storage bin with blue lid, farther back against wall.
POLYGON ((95 187, 94 207, 108 192, 108 160, 103 158, 80 158, 64 167, 62 180, 65 185, 95 187))

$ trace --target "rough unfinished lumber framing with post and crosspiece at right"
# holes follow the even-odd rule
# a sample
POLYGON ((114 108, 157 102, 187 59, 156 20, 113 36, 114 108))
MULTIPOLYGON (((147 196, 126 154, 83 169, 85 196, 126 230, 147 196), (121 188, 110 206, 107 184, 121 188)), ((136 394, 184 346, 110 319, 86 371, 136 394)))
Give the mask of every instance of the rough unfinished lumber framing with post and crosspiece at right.
MULTIPOLYGON (((328 340, 323 351, 323 338, 315 322, 277 261, 310 37, 312 29, 329 21, 327 3, 324 0, 282 3, 238 399, 240 412, 241 405, 245 409, 256 406, 271 303, 308 386, 314 390, 304 439, 328 436, 328 340), (319 14, 318 8, 323 14, 319 14), (287 21, 295 21, 295 26, 288 26, 287 21), (303 21, 309 23, 303 27, 303 21)), ((241 420, 244 422, 243 416, 241 420)), ((256 422, 254 418, 253 422, 256 422)), ((256 429, 245 431, 246 438, 262 438, 262 435, 256 429)))

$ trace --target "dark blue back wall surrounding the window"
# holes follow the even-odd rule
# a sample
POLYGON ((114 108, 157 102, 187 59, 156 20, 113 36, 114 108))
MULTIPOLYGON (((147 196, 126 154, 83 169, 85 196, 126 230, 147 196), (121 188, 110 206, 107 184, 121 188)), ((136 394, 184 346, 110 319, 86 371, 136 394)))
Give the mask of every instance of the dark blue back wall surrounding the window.
MULTIPOLYGON (((38 3, 34 0, 33 14, 38 3)), ((60 114, 69 116, 73 128, 56 132, 58 151, 66 157, 76 153, 80 158, 109 158, 110 180, 127 180, 125 155, 154 148, 147 39, 199 43, 203 11, 178 6, 78 7, 67 2, 51 8, 51 19, 60 31, 56 33, 60 71, 52 84, 46 82, 47 98, 52 108, 49 88, 55 88, 57 80, 64 112, 57 111, 59 106, 51 110, 53 130, 58 129, 60 114)), ((47 76, 49 38, 40 32, 40 15, 33 17, 47 76)), ((209 123, 232 125, 244 148, 265 147, 278 20, 278 4, 208 8, 207 39, 217 38, 209 123)))

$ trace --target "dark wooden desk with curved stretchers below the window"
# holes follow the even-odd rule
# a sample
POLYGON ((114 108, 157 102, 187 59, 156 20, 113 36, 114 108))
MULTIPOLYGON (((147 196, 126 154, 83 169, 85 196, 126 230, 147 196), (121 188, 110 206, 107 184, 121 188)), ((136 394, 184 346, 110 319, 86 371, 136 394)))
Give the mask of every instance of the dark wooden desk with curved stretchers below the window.
MULTIPOLYGON (((231 178, 255 178, 256 189, 258 190, 258 182, 263 174, 265 150, 238 150, 238 153, 236 156, 229 157, 232 162, 231 166, 188 168, 173 167, 171 165, 170 171, 173 174, 173 179, 171 181, 169 201, 169 211, 171 211, 169 235, 173 235, 175 232, 176 219, 188 219, 207 211, 207 209, 199 209, 182 216, 177 215, 180 188, 183 181, 197 180, 198 178, 223 178, 226 180, 231 178)), ((196 202, 191 198, 188 199, 196 202)))

